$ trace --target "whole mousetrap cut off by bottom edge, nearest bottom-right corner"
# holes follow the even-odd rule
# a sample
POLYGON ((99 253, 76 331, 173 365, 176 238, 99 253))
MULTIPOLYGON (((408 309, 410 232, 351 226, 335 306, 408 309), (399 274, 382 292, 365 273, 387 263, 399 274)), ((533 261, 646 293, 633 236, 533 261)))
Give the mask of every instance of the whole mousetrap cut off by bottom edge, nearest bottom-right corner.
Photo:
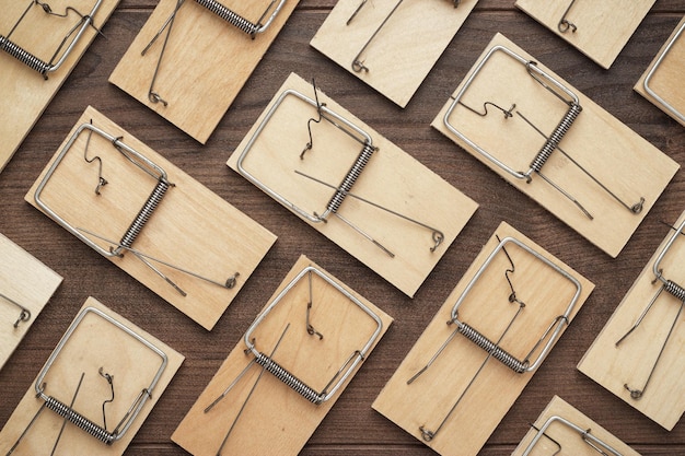
POLYGON ((570 404, 555 396, 511 456, 640 456, 570 404))

